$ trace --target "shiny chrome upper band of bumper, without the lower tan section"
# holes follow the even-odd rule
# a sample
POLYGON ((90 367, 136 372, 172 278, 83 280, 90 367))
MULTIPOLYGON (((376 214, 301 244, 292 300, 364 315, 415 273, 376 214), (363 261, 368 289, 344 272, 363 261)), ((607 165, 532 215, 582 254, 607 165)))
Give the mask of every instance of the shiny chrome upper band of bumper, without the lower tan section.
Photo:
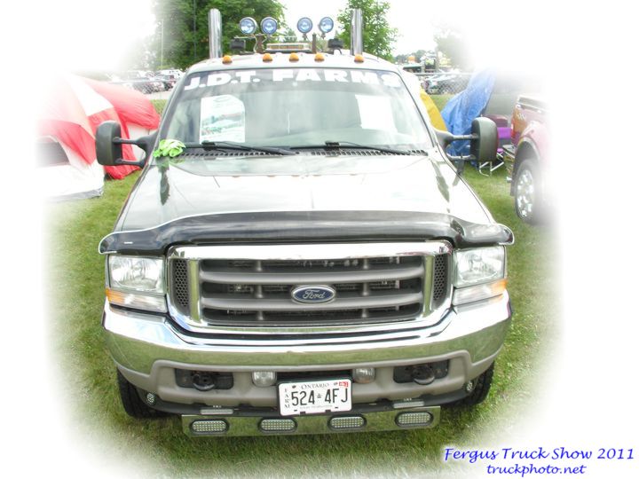
MULTIPOLYGON (((436 326, 348 337, 195 337, 180 334, 162 316, 116 310, 108 303, 103 325, 116 363, 148 374, 157 360, 228 366, 237 371, 256 367, 263 371, 309 370, 315 365, 370 364, 468 351, 470 360, 477 362, 501 348, 509 318, 509 297, 504 293, 455 307, 436 326)), ((272 334, 277 334, 275 328, 272 334)))

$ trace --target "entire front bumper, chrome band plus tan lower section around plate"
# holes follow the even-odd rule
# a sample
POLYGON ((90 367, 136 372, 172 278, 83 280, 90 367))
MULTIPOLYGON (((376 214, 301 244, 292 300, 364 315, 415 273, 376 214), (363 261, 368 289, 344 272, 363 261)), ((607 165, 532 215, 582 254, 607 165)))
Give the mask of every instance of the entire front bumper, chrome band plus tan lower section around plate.
MULTIPOLYGON (((201 406, 277 407, 276 387, 258 388, 251 372, 278 373, 375 367, 375 381, 353 384, 353 404, 378 400, 451 395, 493 363, 508 331, 509 297, 498 297, 449 310, 435 326, 382 334, 321 339, 295 337, 254 340, 195 337, 177 330, 168 318, 119 310, 106 304, 103 324, 114 361, 130 383, 164 402, 201 406), (393 381, 393 368, 448 361, 446 377, 428 385, 393 381), (200 391, 177 385, 176 369, 231 372, 233 388, 200 391)), ((181 412, 185 413, 185 412, 181 412)))

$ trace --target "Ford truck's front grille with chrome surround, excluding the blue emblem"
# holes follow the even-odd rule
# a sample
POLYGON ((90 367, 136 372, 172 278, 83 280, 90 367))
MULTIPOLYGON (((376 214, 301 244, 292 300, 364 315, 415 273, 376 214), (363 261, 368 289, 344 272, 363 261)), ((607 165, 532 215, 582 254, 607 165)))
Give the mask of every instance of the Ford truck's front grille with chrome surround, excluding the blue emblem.
POLYGON ((416 318, 446 298, 448 258, 446 254, 290 260, 173 258, 170 300, 180 313, 202 326, 402 321, 416 318), (298 302, 292 295, 297 287, 328 287, 335 297, 327 302, 298 302))

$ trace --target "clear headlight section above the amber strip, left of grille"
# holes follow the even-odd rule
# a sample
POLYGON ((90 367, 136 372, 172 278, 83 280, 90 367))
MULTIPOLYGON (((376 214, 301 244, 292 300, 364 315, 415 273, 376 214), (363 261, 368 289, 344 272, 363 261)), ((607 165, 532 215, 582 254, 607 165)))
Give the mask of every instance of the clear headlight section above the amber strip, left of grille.
POLYGON ((164 260, 109 256, 109 285, 118 290, 164 294, 164 260))

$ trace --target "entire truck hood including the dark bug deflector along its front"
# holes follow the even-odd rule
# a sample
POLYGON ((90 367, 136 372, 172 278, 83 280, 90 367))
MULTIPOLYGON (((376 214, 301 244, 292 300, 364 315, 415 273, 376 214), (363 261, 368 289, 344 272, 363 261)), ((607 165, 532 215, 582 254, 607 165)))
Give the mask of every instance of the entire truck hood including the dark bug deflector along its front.
POLYGON ((99 252, 274 240, 513 242, 437 150, 214 158, 150 165, 99 252))

